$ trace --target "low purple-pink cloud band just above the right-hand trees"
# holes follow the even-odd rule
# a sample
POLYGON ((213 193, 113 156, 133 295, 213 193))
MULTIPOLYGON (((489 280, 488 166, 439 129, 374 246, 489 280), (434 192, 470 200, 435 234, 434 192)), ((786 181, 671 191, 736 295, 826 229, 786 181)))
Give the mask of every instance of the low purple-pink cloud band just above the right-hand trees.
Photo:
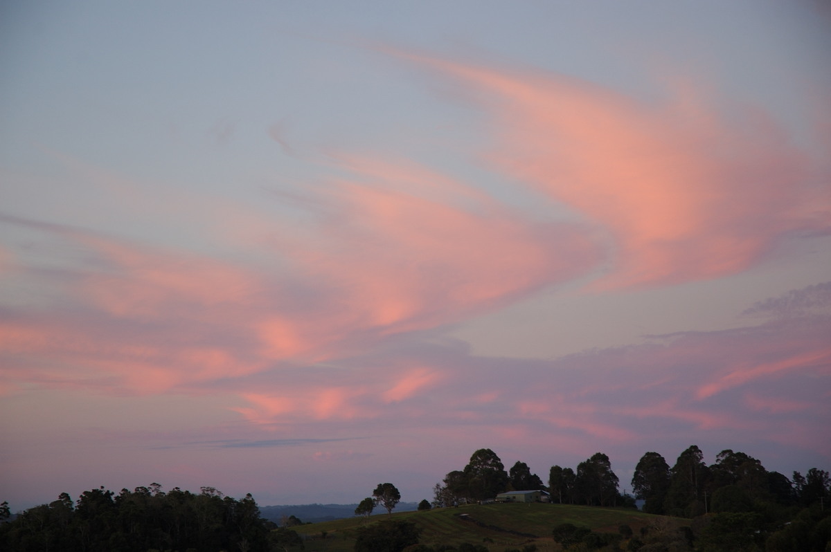
POLYGON ((692 442, 702 432, 750 435, 768 427, 765 442, 825 453, 822 443, 795 440, 787 427, 819 431, 831 421, 829 408, 817 408, 831 368, 831 320, 793 322, 653 336, 643 344, 553 360, 485 358, 450 343, 411 341, 374 357, 342 359, 338 368, 295 380, 291 392, 278 385, 269 390, 260 380, 266 394, 248 397, 246 413, 264 427, 318 419, 317 401, 330 399, 318 382, 328 381, 337 382, 340 392, 337 408, 322 419, 335 427, 361 423, 383 432, 411 421, 415 427, 455 427, 471 438, 497 432, 505 442, 522 442, 547 435, 588 448, 597 440, 648 446, 692 442), (416 362, 420 368, 405 368, 416 362), (432 374, 440 381, 430 381, 432 374), (805 379, 817 384, 805 387, 805 379), (390 400, 405 388, 403 400, 390 400), (638 429, 644 426, 650 431, 638 429))

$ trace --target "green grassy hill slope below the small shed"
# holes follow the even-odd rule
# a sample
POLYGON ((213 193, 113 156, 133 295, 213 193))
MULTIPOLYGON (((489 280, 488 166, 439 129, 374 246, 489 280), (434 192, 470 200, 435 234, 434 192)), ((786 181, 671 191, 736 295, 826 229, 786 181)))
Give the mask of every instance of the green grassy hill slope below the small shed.
MULTIPOLYGON (((293 527, 307 539, 306 550, 347 552, 355 545, 357 531, 388 516, 369 519, 352 518, 293 527), (325 538, 323 538, 325 535, 325 538)), ((617 533, 629 525, 637 535, 647 525, 686 525, 689 520, 672 520, 637 510, 606 509, 558 504, 487 504, 428 511, 393 513, 395 519, 409 520, 421 530, 425 545, 458 545, 470 542, 485 545, 492 552, 521 549, 535 544, 540 552, 560 550, 551 538, 551 530, 562 523, 588 527, 600 532, 617 533)))

